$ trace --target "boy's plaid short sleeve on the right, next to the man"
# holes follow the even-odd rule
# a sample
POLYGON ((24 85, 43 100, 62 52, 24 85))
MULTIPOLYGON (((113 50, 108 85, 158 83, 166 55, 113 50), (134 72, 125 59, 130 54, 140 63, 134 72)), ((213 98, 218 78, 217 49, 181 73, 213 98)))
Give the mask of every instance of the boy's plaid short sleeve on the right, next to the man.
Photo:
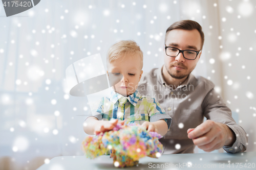
POLYGON ((170 128, 172 117, 165 113, 163 107, 154 98, 149 102, 148 116, 150 116, 150 122, 156 122, 157 120, 164 119, 168 129, 170 128))

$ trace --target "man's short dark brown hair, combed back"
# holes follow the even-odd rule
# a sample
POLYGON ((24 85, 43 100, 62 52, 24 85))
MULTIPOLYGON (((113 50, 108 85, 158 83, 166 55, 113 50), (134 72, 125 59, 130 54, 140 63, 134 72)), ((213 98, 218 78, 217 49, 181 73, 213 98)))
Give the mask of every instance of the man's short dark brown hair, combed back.
POLYGON ((204 45, 204 32, 202 31, 202 27, 200 24, 194 20, 180 20, 177 22, 174 22, 169 28, 167 28, 165 33, 165 39, 164 42, 166 42, 166 35, 169 31, 174 29, 181 29, 181 30, 194 30, 197 29, 201 36, 201 50, 204 45))

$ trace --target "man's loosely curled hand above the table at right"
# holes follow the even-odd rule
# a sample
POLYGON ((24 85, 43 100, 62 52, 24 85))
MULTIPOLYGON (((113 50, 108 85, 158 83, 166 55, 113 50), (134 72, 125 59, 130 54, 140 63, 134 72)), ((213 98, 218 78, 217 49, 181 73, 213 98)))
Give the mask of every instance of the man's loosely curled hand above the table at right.
POLYGON ((206 120, 195 129, 188 129, 187 136, 205 152, 218 150, 236 141, 236 135, 227 125, 212 120, 206 120))

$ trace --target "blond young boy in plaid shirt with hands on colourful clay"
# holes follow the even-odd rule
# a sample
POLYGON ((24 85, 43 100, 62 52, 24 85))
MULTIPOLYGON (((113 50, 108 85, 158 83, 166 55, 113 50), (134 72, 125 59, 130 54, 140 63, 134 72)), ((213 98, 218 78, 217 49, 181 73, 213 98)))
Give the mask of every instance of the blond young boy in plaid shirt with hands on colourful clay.
POLYGON ((120 120, 135 122, 146 127, 147 131, 164 136, 172 118, 160 104, 136 90, 142 76, 143 54, 135 41, 119 41, 111 46, 107 55, 107 74, 112 92, 101 99, 93 116, 86 119, 83 129, 93 135, 112 130, 120 120), (112 119, 112 120, 111 120, 112 119), (100 121, 111 120, 111 121, 100 121))

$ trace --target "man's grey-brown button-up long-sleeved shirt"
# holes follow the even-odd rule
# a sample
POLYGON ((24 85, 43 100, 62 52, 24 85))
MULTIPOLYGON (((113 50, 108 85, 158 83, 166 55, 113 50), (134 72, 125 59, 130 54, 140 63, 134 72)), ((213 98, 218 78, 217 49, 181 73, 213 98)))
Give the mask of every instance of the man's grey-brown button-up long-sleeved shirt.
POLYGON ((157 99, 165 112, 172 117, 172 124, 164 138, 163 154, 194 153, 195 144, 187 137, 187 129, 196 128, 207 119, 226 124, 236 134, 233 145, 224 146, 229 153, 244 152, 248 137, 237 125, 220 94, 214 90, 214 83, 201 76, 189 74, 177 88, 168 86, 162 76, 162 68, 154 68, 143 75, 138 91, 157 99), (174 90, 173 90, 174 89, 174 90))

